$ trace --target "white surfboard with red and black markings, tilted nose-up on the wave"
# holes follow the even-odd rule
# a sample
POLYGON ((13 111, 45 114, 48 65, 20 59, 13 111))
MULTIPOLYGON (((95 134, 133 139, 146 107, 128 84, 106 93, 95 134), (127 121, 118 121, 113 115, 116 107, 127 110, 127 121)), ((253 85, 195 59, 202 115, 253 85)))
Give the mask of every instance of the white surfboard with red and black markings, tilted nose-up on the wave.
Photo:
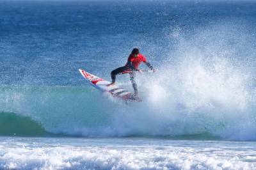
POLYGON ((126 89, 120 88, 116 85, 108 86, 108 84, 110 84, 109 81, 106 81, 100 77, 97 77, 92 73, 88 73, 85 70, 79 69, 79 72, 91 86, 93 86, 96 89, 99 89, 102 92, 108 92, 113 97, 120 98, 125 102, 127 101, 141 102, 140 98, 134 98, 133 93, 129 92, 126 89))

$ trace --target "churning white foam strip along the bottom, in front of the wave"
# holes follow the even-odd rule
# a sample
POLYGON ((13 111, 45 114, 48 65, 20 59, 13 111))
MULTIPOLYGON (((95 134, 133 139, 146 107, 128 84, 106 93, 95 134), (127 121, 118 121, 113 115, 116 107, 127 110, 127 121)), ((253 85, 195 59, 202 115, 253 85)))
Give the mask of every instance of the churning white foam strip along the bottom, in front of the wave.
POLYGON ((250 143, 54 138, 8 142, 0 143, 1 169, 256 168, 250 143))

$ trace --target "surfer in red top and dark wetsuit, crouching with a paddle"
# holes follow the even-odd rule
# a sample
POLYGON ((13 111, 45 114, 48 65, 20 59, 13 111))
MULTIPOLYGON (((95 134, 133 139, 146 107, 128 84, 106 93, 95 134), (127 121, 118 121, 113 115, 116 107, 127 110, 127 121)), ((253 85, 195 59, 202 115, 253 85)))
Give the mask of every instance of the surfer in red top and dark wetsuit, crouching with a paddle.
POLYGON ((130 80, 132 82, 132 87, 134 89, 134 97, 138 97, 138 88, 137 88, 137 84, 136 81, 134 80, 135 78, 135 73, 136 72, 142 72, 138 67, 140 65, 140 63, 143 62, 145 63, 145 65, 148 66, 148 68, 150 68, 150 70, 152 70, 153 72, 156 72, 156 70, 153 68, 152 65, 150 65, 150 63, 147 62, 147 59, 145 58, 145 56, 143 56, 142 54, 140 54, 139 49, 132 49, 131 54, 129 55, 129 58, 127 60, 127 63, 125 64, 125 66, 121 66, 119 68, 116 68, 115 70, 113 70, 111 72, 111 79, 112 82, 111 84, 109 84, 108 86, 112 86, 115 84, 116 81, 116 75, 120 74, 120 73, 125 73, 125 72, 129 72, 130 74, 130 80))

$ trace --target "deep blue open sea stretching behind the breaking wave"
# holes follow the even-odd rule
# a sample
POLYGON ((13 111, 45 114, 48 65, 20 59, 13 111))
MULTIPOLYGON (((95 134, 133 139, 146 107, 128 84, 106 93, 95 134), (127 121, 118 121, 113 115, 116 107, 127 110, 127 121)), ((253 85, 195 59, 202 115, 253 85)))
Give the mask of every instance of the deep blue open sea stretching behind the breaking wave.
POLYGON ((254 64, 255 7, 255 1, 0 1, 0 82, 81 86, 77 68, 109 79, 134 47, 156 68, 177 65, 172 59, 184 58, 177 52, 194 45, 205 57, 212 50, 223 57, 225 50, 232 52, 227 58, 254 64))

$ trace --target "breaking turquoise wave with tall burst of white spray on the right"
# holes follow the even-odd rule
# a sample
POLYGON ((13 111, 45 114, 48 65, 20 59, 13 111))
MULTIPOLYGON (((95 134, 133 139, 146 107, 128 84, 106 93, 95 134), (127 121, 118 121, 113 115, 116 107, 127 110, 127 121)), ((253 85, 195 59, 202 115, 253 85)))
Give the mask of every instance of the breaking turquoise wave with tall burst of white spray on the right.
MULTIPOLYGON (((1 86, 0 110, 52 134, 256 139, 249 73, 226 59, 199 57, 164 68, 138 75, 140 103, 126 105, 90 86, 1 86)), ((131 90, 129 80, 119 82, 131 90)))

